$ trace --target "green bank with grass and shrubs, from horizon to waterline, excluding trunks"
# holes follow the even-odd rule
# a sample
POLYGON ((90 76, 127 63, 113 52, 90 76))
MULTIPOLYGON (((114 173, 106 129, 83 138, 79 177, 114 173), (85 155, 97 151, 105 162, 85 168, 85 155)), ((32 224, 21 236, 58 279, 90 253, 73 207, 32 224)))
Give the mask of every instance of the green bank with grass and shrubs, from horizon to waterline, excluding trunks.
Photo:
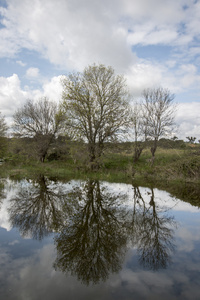
MULTIPOLYGON (((58 141, 50 149, 44 163, 37 161, 28 149, 31 141, 11 140, 5 163, 0 166, 1 176, 31 176, 45 174, 58 178, 98 178, 107 181, 200 181, 199 145, 177 147, 178 141, 170 141, 171 148, 161 141, 152 162, 150 148, 146 146, 140 159, 133 164, 134 143, 107 143, 100 158, 99 167, 91 170, 87 164, 87 146, 84 143, 58 141), (24 143, 26 147, 23 148, 24 143), (174 143, 174 144, 173 144, 174 143), (174 147, 172 147, 174 145, 174 147), (59 151, 57 150, 59 149, 59 151)), ((166 143, 166 140, 164 140, 166 143)))

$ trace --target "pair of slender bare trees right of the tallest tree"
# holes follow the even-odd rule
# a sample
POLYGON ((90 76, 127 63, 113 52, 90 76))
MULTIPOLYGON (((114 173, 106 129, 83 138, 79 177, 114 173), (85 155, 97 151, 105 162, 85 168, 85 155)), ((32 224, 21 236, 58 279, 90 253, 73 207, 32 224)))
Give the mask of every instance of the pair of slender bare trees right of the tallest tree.
POLYGON ((174 128, 176 107, 174 95, 168 89, 146 89, 142 94, 142 102, 135 103, 132 112, 132 128, 135 134, 134 159, 136 162, 147 140, 153 140, 151 153, 154 161, 157 142, 160 137, 167 136, 174 128))

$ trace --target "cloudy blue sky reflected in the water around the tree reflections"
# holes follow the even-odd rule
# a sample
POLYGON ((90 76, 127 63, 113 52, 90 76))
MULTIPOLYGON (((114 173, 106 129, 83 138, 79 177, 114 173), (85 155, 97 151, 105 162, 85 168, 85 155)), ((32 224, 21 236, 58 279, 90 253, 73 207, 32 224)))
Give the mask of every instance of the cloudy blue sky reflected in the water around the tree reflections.
MULTIPOLYGON (((73 189, 73 184, 68 187, 73 189)), ((127 193, 131 205, 132 186, 107 185, 110 190, 113 187, 116 193, 127 193)), ((54 270, 56 251, 52 238, 42 242, 22 239, 16 229, 11 229, 6 210, 16 191, 17 187, 9 189, 0 212, 1 299, 200 299, 200 211, 197 208, 155 189, 156 205, 164 202, 165 207, 173 207, 170 214, 177 222, 172 264, 156 272, 145 270, 139 266, 136 251, 130 249, 118 274, 111 274, 105 283, 87 287, 76 278, 54 270)), ((140 191, 148 203, 150 190, 141 188, 140 191)))

